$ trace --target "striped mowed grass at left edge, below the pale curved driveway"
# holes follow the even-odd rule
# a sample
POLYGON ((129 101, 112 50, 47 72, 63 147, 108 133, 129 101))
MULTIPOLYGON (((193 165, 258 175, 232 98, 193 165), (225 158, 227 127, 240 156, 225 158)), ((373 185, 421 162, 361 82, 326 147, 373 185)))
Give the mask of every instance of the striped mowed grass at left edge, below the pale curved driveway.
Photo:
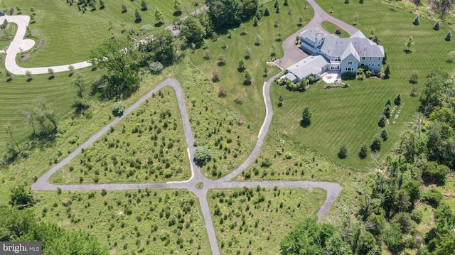
MULTIPOLYGON (((77 87, 72 85, 73 78, 69 77, 70 72, 55 73, 55 78, 52 80, 49 80, 50 75, 33 75, 31 82, 27 81, 26 75, 11 75, 14 80, 6 82, 9 77, 6 77, 4 63, 0 65, 0 71, 0 123, 2 126, 11 124, 18 141, 25 141, 26 137, 33 134, 31 125, 25 117, 21 116, 21 111, 33 109, 36 99, 44 99, 55 110, 57 119, 63 119, 72 112, 77 87)), ((80 72, 89 84, 104 74, 102 70, 91 71, 87 68, 80 72)), ((88 96, 89 90, 90 86, 85 96, 88 96)), ((97 108, 95 104, 92 107, 97 108)), ((39 125, 36 124, 36 126, 39 125)), ((9 135, 6 132, 0 132, 0 146, 5 148, 6 143, 9 142, 12 142, 9 135)))

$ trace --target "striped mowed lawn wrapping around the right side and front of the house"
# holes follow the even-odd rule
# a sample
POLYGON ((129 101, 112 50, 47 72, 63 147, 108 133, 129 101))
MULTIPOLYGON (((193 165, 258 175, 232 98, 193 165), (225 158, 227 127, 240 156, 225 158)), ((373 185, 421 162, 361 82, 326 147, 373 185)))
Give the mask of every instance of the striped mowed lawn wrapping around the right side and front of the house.
MULTIPOLYGON (((333 16, 348 23, 353 22, 354 11, 358 11, 358 25, 366 36, 370 29, 375 28, 382 40, 387 53, 387 64, 390 65, 391 77, 388 80, 376 78, 363 81, 350 80, 348 89, 323 89, 323 82, 311 85, 306 92, 289 92, 284 87, 272 85, 272 102, 274 119, 272 127, 288 139, 299 141, 320 151, 331 158, 337 158, 339 148, 343 143, 348 146, 348 158, 339 160, 347 166, 365 169, 370 165, 370 158, 362 160, 358 157, 360 146, 372 143, 375 136, 380 134, 378 126, 387 99, 393 99, 401 94, 402 105, 398 119, 395 112, 390 124, 385 129, 389 139, 382 143, 381 155, 392 149, 399 139, 401 131, 410 121, 412 114, 419 106, 419 95, 422 94, 426 76, 432 69, 452 72, 453 64, 446 62, 447 54, 455 50, 454 40, 447 42, 444 36, 449 28, 441 26, 439 31, 432 29, 434 22, 421 18, 419 26, 414 26, 414 15, 405 11, 392 11, 385 6, 372 1, 365 4, 343 4, 336 1, 319 1, 327 12, 333 5, 333 16), (406 54, 407 40, 413 36, 415 45, 412 53, 406 54), (417 85, 410 84, 410 76, 419 75, 417 85), (418 97, 410 97, 412 87, 417 87, 418 97), (279 96, 284 98, 284 106, 277 107, 279 96), (309 106, 313 112, 311 126, 303 128, 299 125, 301 112, 309 106), (393 123, 395 121, 395 123, 393 123)), ((371 154, 371 151, 370 151, 371 154)))

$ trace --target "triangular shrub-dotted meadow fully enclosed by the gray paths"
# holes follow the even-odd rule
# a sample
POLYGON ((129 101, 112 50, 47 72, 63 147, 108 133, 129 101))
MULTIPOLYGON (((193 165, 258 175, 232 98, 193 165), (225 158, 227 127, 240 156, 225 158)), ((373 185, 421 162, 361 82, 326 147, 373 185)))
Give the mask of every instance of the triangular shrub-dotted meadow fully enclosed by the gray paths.
MULTIPOLYGON (((70 141, 83 142, 78 136, 70 141)), ((56 172, 50 182, 188 180, 191 170, 186 148, 176 93, 164 87, 56 172)))

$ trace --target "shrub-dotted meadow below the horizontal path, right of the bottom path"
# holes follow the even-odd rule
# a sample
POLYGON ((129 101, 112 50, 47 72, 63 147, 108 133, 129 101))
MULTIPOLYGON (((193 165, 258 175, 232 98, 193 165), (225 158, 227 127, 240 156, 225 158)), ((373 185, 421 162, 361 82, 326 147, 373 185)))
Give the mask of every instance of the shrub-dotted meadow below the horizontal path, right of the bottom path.
POLYGON ((221 254, 279 254, 279 242, 297 223, 316 215, 326 191, 216 189, 207 197, 221 254))

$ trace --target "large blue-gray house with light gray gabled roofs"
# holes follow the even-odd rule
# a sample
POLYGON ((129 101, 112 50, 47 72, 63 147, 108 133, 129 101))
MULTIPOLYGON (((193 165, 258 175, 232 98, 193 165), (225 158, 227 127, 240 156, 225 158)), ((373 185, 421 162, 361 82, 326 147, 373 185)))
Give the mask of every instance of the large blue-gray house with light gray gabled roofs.
POLYGON ((311 56, 288 68, 294 82, 310 75, 319 79, 323 72, 357 72, 359 67, 380 72, 384 48, 357 31, 350 38, 327 35, 318 28, 300 34, 300 48, 311 56), (293 76, 294 75, 294 76, 293 76))

